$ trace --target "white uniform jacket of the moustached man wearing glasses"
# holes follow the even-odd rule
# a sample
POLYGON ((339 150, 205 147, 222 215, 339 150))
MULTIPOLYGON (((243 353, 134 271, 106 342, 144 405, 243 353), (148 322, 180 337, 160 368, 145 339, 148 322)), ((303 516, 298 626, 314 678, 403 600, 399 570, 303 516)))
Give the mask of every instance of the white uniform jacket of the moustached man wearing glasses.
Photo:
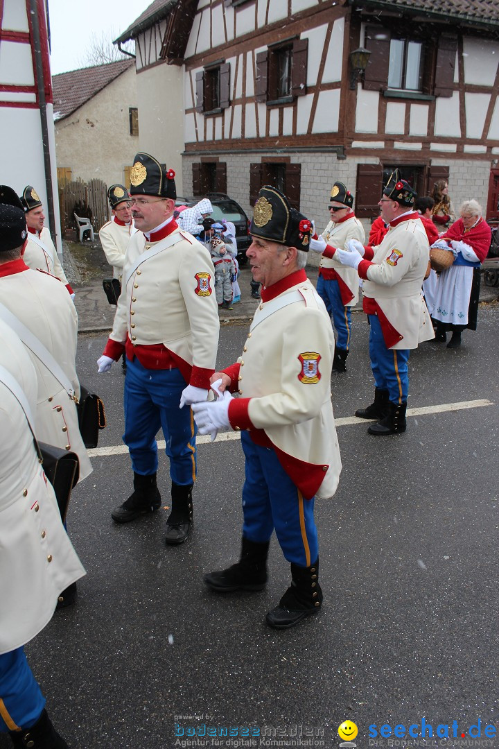
POLYGON ((132 345, 162 343, 192 367, 192 385, 208 387, 209 375, 199 370, 215 369, 220 322, 214 289, 209 252, 191 234, 174 228, 164 239, 149 242, 137 231, 126 251, 110 339, 123 344, 129 336, 132 345), (171 238, 179 241, 168 246, 171 238), (163 245, 158 254, 144 255, 163 245))

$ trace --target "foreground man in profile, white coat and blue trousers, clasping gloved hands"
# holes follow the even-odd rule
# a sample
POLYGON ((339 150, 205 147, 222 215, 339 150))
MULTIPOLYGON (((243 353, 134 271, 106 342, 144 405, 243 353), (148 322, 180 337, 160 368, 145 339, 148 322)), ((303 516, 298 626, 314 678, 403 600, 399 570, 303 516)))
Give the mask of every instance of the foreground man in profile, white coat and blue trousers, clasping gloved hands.
POLYGON ((275 530, 292 583, 266 616, 274 628, 292 627, 322 604, 313 505, 334 494, 341 470, 331 320, 303 270, 312 232, 281 192, 260 189, 247 255, 262 301, 242 356, 212 377, 221 380, 221 398, 192 407, 201 434, 242 430, 246 458, 241 558, 205 582, 219 592, 262 589, 275 530))

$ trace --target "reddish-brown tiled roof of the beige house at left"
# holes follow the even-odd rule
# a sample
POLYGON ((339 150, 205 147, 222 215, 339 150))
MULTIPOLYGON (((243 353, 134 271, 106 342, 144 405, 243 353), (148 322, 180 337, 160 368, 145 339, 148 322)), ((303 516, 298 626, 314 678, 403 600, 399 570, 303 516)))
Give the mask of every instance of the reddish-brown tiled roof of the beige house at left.
POLYGON ((61 120, 72 114, 133 64, 132 58, 127 58, 53 76, 54 119, 61 120))

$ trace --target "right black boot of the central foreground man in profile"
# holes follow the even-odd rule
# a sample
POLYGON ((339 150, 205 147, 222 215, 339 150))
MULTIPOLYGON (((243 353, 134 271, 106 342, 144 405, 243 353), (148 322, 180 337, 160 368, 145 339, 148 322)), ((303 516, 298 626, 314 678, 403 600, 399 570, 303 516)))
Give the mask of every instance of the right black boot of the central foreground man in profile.
POLYGON ((301 619, 317 613, 322 605, 322 590, 318 582, 319 557, 310 567, 291 565, 291 586, 279 605, 266 616, 267 624, 275 629, 294 627, 301 619))

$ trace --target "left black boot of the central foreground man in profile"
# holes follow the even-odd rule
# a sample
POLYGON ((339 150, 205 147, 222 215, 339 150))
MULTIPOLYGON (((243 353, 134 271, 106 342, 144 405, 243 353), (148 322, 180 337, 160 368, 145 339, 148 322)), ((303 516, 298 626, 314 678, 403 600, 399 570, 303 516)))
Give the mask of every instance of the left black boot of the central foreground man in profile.
POLYGON ((267 582, 267 555, 270 542, 257 543, 242 537, 241 558, 237 564, 219 572, 208 572, 203 579, 212 590, 262 590, 267 582))

